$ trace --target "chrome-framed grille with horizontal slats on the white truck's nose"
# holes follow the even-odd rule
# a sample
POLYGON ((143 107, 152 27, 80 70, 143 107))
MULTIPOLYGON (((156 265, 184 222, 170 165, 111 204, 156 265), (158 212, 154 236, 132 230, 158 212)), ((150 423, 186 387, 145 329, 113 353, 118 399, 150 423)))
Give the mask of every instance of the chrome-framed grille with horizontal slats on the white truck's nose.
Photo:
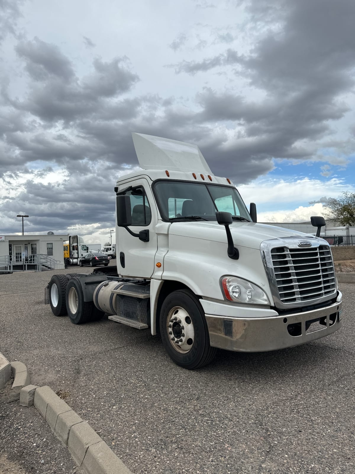
POLYGON ((316 300, 336 292, 334 264, 328 246, 274 247, 271 258, 282 303, 316 300))

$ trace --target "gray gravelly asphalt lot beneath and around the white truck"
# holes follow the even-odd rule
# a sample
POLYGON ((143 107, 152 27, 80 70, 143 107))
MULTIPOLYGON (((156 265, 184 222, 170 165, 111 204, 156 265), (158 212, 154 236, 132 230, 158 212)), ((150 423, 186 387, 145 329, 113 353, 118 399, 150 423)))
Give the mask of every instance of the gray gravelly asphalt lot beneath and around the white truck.
POLYGON ((190 372, 148 330, 53 316, 43 288, 68 272, 0 275, 0 351, 32 383, 69 392, 134 474, 355 472, 355 285, 340 285, 337 333, 269 353, 220 351, 190 372))

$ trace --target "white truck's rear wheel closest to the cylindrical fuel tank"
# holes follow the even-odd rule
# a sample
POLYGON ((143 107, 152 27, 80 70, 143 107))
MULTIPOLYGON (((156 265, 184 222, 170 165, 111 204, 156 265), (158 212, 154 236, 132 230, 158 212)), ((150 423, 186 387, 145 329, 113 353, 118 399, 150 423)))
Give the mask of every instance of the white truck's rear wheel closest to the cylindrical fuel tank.
POLYGON ((65 301, 68 316, 73 324, 84 324, 97 319, 98 315, 94 311, 94 303, 93 301, 84 301, 81 284, 77 278, 69 280, 65 292, 65 301))

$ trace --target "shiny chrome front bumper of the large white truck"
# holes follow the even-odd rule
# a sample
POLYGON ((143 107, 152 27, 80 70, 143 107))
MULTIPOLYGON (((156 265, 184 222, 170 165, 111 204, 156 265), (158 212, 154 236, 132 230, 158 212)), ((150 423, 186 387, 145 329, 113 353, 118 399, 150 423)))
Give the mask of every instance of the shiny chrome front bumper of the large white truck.
POLYGON ((336 303, 319 310, 266 318, 232 318, 206 314, 210 344, 229 351, 264 352, 299 346, 328 336, 341 328, 341 294, 336 303), (332 324, 331 319, 335 319, 332 324), (306 321, 324 318, 326 326, 306 332, 306 321), (288 327, 301 323, 301 335, 291 336, 288 327))

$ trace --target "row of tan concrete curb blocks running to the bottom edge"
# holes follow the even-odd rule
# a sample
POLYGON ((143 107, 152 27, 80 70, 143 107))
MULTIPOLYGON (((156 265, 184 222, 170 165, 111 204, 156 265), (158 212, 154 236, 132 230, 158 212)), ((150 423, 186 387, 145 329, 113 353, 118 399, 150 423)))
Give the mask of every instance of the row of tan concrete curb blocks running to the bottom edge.
POLYGON ((21 401, 25 403, 28 400, 30 405, 33 393, 36 409, 87 474, 132 474, 96 431, 50 387, 24 387, 21 401))

